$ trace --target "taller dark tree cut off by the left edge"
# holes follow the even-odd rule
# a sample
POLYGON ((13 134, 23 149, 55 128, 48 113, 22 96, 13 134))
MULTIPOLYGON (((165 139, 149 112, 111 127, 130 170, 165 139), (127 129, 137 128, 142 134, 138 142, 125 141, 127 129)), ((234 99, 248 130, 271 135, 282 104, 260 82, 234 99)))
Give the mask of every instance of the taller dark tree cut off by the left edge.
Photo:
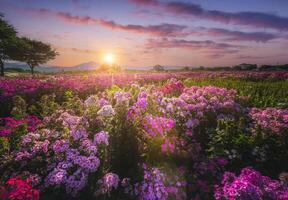
POLYGON ((14 59, 17 47, 17 32, 0 14, 0 75, 4 76, 4 61, 14 59))

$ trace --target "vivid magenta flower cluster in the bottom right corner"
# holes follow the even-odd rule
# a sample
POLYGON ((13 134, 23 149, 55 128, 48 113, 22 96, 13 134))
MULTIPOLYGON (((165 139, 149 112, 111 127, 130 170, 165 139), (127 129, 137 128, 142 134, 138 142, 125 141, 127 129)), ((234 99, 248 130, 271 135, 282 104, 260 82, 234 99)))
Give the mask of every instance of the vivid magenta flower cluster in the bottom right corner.
POLYGON ((287 185, 261 175, 253 168, 246 167, 237 177, 234 173, 225 172, 221 185, 215 186, 216 200, 229 199, 279 199, 288 198, 287 185))

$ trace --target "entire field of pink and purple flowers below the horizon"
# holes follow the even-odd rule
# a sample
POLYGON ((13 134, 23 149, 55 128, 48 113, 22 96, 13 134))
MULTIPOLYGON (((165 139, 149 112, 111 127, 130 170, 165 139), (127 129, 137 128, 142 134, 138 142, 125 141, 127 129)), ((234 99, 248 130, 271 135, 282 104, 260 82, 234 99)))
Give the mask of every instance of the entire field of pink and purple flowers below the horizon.
POLYGON ((288 199, 288 73, 0 79, 0 199, 288 199))

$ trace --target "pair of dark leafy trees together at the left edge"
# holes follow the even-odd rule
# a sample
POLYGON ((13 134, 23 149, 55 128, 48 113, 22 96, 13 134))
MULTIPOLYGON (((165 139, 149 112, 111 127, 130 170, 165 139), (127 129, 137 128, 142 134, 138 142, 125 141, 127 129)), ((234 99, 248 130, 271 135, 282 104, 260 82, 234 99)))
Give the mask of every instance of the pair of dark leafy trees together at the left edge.
POLYGON ((58 55, 49 44, 27 37, 20 37, 16 29, 0 14, 0 75, 4 76, 6 61, 27 63, 32 74, 34 68, 58 55))

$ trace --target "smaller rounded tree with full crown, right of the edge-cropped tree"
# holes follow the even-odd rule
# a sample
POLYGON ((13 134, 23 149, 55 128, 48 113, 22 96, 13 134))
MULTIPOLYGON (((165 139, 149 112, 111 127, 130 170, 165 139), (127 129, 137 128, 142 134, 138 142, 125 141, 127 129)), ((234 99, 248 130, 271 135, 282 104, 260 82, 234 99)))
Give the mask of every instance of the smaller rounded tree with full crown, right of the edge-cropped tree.
POLYGON ((23 45, 21 45, 19 49, 17 59, 27 63, 32 75, 34 74, 34 68, 36 66, 47 63, 58 55, 58 52, 52 49, 49 44, 26 37, 21 38, 21 40, 23 45))

